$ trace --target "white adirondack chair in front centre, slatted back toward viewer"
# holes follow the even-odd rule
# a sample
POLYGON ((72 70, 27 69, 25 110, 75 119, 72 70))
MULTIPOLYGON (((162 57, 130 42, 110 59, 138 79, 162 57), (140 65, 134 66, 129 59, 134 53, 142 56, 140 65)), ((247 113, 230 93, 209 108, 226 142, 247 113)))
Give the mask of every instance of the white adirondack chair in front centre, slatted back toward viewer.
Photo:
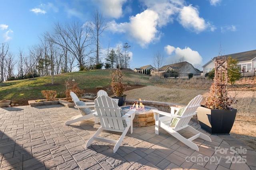
POLYGON ((120 112, 120 108, 117 103, 108 96, 98 96, 98 98, 94 100, 94 103, 97 112, 97 115, 95 116, 99 117, 101 127, 88 140, 86 147, 88 148, 93 141, 112 143, 115 144, 113 150, 113 153, 115 153, 121 145, 129 128, 130 133, 132 133, 132 119, 134 119, 135 116, 135 109, 128 111, 125 115, 122 115, 122 111, 120 112), (124 125, 125 123, 126 125, 124 125), (119 140, 99 137, 103 130, 122 132, 122 135, 119 140))

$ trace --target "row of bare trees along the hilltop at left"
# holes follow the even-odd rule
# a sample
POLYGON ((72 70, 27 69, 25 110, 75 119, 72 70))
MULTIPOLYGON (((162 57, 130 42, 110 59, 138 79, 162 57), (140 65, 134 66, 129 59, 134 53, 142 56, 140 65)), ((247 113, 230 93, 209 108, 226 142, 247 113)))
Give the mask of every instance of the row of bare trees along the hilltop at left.
MULTIPOLYGON (((20 49, 19 54, 14 55, 10 52, 9 43, 1 43, 0 80, 51 75, 53 84, 54 74, 71 72, 74 68, 86 70, 94 68, 96 64, 103 64, 101 59, 104 58, 100 57, 100 36, 106 28, 103 14, 96 10, 92 15, 92 22, 54 23, 53 30, 45 31, 39 36, 38 45, 28 47, 28 54, 20 49), (15 60, 17 58, 18 60, 15 60), (18 74, 14 74, 15 70, 18 70, 18 74)), ((128 68, 129 48, 126 43, 123 54, 122 49, 118 47, 112 68, 128 68)), ((111 63, 108 51, 109 49, 106 63, 111 63)), ((106 64, 105 68, 110 67, 106 64)))

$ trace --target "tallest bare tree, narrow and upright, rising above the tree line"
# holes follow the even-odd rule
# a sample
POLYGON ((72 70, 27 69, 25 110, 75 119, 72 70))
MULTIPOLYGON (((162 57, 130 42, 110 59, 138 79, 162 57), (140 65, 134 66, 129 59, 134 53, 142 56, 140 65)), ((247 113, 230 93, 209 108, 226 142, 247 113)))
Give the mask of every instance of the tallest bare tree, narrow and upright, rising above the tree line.
POLYGON ((100 40, 99 37, 102 32, 106 29, 106 24, 104 23, 104 18, 102 18, 102 12, 99 12, 98 9, 94 11, 93 22, 91 23, 92 35, 96 41, 96 64, 99 63, 99 48, 100 40))

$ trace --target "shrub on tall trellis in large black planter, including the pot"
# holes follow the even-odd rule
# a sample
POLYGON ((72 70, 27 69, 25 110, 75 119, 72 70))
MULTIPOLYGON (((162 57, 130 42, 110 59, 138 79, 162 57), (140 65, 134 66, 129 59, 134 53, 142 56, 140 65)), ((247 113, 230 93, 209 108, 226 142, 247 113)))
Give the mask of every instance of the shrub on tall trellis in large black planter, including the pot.
POLYGON ((235 98, 228 97, 228 63, 225 56, 214 58, 214 82, 202 106, 197 109, 201 128, 211 134, 229 134, 236 117, 237 110, 231 107, 235 98))

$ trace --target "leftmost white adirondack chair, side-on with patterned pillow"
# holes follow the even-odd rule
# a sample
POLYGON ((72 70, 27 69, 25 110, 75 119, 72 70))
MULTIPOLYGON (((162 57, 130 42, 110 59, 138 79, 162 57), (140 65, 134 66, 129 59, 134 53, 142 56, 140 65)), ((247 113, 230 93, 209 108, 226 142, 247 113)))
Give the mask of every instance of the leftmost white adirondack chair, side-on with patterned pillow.
MULTIPOLYGON (((68 120, 65 122, 65 125, 70 125, 72 123, 76 123, 76 122, 94 117, 94 114, 92 114, 92 113, 95 113, 94 109, 88 110, 88 111, 86 110, 88 114, 86 114, 86 115, 84 114, 84 112, 85 112, 84 108, 94 108, 94 102, 84 103, 83 101, 79 100, 79 98, 76 96, 76 94, 74 92, 70 92, 70 96, 71 96, 73 102, 76 104, 76 106, 74 106, 74 107, 78 108, 78 110, 80 111, 81 114, 73 116, 71 118, 71 120, 68 120), (78 103, 80 103, 82 105, 79 106, 78 103)), ((98 117, 94 117, 94 121, 95 121, 95 123, 98 123, 98 117)))

